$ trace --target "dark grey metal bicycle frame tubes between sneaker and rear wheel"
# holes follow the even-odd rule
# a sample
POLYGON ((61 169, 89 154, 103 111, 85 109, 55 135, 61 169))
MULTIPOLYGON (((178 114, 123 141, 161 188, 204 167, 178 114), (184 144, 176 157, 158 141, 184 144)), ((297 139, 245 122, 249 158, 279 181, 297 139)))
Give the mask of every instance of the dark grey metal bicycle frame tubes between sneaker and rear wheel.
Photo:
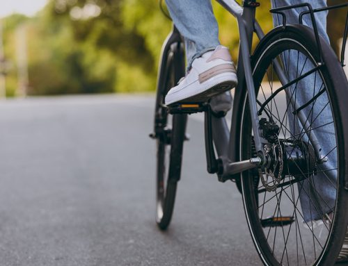
MULTIPOLYGON (((232 123, 229 131, 230 137, 226 139, 226 133, 221 134, 221 129, 223 131, 228 131, 228 126, 226 124, 226 119, 213 117, 212 125, 213 125, 213 136, 214 143, 216 144, 216 151, 218 155, 227 154, 227 156, 221 156, 222 165, 223 165, 223 173, 220 174, 219 180, 226 181, 230 179, 234 174, 239 174, 246 169, 251 169, 256 167, 257 165, 262 165, 265 163, 264 150, 262 148, 262 140, 261 131, 259 128, 259 119, 258 119, 258 108, 256 103, 256 95, 255 95, 255 86, 253 83, 253 74, 251 70, 251 44, 253 42, 253 32, 260 31, 260 28, 255 28, 253 25, 255 24, 255 8, 258 6, 256 1, 244 1, 243 8, 239 7, 241 10, 237 8, 231 9, 230 6, 226 5, 226 1, 216 0, 220 3, 228 12, 230 12, 234 17, 237 18, 238 28, 239 28, 239 57, 238 57, 238 65, 237 65, 237 78, 238 85, 235 88, 235 100, 233 103, 233 112, 232 112, 232 123), (242 104, 242 96, 245 94, 244 90, 248 92, 248 103, 251 111, 251 123, 254 132, 254 141, 255 141, 255 149, 258 154, 260 160, 251 161, 246 160, 243 162, 239 162, 239 143, 237 140, 239 139, 239 126, 240 121, 237 121, 238 117, 241 117, 240 114, 236 112, 239 108, 237 105, 242 104), (216 132, 215 128, 219 128, 219 131, 216 132), (221 135, 224 138, 221 138, 221 135), (226 145, 228 143, 228 145, 226 145)), ((259 34, 263 34, 262 31, 259 34)))

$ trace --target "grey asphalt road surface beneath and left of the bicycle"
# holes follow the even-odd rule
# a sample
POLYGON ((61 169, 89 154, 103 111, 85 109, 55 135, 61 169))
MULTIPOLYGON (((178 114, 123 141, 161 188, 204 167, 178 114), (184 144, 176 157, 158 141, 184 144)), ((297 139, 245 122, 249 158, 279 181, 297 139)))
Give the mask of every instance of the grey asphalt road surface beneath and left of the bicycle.
POLYGON ((152 95, 0 103, 0 265, 261 265, 233 183, 189 119, 166 232, 155 224, 152 95))

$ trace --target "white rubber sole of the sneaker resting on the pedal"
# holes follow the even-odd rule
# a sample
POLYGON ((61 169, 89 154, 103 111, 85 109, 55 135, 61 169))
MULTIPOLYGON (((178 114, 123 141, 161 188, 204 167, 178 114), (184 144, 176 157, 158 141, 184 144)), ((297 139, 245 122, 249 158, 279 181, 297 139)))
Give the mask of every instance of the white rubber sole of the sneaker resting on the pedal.
MULTIPOLYGON (((226 74, 221 74, 220 76, 216 76, 212 79, 212 81, 206 81, 202 83, 205 85, 205 88, 200 89, 203 90, 198 92, 195 95, 182 95, 182 99, 175 99, 175 101, 166 102, 167 106, 171 106, 175 103, 203 103, 209 101, 212 97, 217 94, 221 94, 228 90, 232 90, 237 86, 237 75, 235 73, 231 73, 226 76, 226 74), (206 83, 206 84, 205 84, 206 83)), ((185 89, 184 89, 185 90, 185 89)))

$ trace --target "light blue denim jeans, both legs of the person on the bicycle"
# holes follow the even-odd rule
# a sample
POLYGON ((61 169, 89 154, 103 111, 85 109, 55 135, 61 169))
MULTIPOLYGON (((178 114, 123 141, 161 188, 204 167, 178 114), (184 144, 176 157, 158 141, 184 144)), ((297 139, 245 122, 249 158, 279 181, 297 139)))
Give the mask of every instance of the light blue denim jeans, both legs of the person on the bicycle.
MULTIPOLYGON (((271 0, 272 6, 274 8, 280 6, 294 5, 296 3, 303 3, 303 0, 271 0)), ((319 8, 326 6, 326 0, 310 0, 306 1, 310 3, 313 8, 319 8)), ((166 0, 168 10, 171 13, 171 17, 177 29, 180 31, 185 40, 186 47, 186 56, 187 56, 187 66, 188 69, 191 66, 192 61, 195 58, 198 58, 206 51, 215 49, 219 42, 219 28, 214 17, 212 10, 212 3, 210 0, 166 0)), ((287 23, 288 24, 298 24, 299 23, 299 13, 304 9, 296 8, 287 10, 287 23)), ((326 34, 326 12, 316 13, 317 27, 319 35, 329 42, 329 38, 326 34)), ((281 24, 281 17, 274 15, 274 26, 281 24)), ((308 15, 303 17, 304 24, 311 26, 310 17, 308 15)), ((287 73, 287 76, 291 79, 296 77, 299 72, 295 69, 296 67, 291 67, 291 65, 296 65, 297 56, 290 56, 290 60, 287 60, 290 65, 290 71, 287 73), (296 73, 297 72, 297 73, 296 73)), ((303 56, 298 58, 299 65, 303 66, 305 59, 303 56)), ((303 68, 303 73, 313 68, 313 65, 306 63, 303 68)), ((319 92, 320 88, 315 82, 315 74, 312 74, 306 77, 301 81, 297 88, 314 88, 315 94, 319 92)), ((290 87, 289 94, 291 95, 294 92, 294 87, 290 87)), ((313 90, 296 90, 296 101, 299 102, 299 105, 303 105, 309 99, 313 98, 313 90)), ((289 100, 289 99, 288 99, 289 100)), ((317 98, 316 105, 324 106, 328 101, 325 94, 322 94, 321 97, 317 98), (321 104, 323 103, 323 104, 321 104)), ((313 110, 310 112, 310 106, 305 108, 304 112, 306 115, 311 115, 316 117, 319 112, 320 115, 315 119, 313 123, 313 128, 317 126, 326 124, 325 122, 333 120, 331 116, 330 106, 326 106, 324 110, 313 110), (317 125, 317 126, 316 126, 317 125)), ((291 113, 291 112, 289 112, 291 113)), ((294 119, 292 115, 288 115, 289 126, 291 128, 292 134, 300 134, 303 131, 303 126, 301 123, 294 119)), ((320 143, 320 148, 322 149, 322 155, 329 153, 333 147, 335 147, 335 134, 333 124, 327 126, 322 126, 318 128, 313 134, 315 134, 317 140, 320 143)), ((303 141, 308 142, 306 134, 303 134, 303 141)), ((322 168, 333 169, 337 165, 337 151, 331 151, 329 160, 323 166, 319 166, 318 174, 314 177, 306 179, 299 184, 299 199, 301 202, 301 208, 303 210, 303 219, 308 222, 313 219, 320 219, 325 213, 330 213, 333 207, 335 206, 335 196, 336 190, 333 188, 331 183, 335 183, 337 173, 328 177, 324 172, 320 172, 322 168), (321 168, 322 167, 322 168, 321 168), (316 193, 313 193, 313 188, 315 187, 316 193), (317 193, 319 192, 319 199, 317 193)), ((335 170, 334 170, 335 171, 335 170)), ((285 197, 285 196, 284 196, 285 197)))

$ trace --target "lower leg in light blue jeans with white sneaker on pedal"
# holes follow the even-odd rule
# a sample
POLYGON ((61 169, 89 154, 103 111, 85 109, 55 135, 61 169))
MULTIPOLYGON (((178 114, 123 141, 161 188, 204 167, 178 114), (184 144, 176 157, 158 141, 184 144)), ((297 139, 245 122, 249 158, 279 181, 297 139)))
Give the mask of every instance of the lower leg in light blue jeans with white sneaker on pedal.
POLYGON ((187 56, 187 75, 169 90, 166 105, 212 99, 212 110, 226 113, 232 106, 229 90, 237 84, 237 75, 228 48, 220 45, 211 0, 166 0, 166 4, 184 37, 187 56))

